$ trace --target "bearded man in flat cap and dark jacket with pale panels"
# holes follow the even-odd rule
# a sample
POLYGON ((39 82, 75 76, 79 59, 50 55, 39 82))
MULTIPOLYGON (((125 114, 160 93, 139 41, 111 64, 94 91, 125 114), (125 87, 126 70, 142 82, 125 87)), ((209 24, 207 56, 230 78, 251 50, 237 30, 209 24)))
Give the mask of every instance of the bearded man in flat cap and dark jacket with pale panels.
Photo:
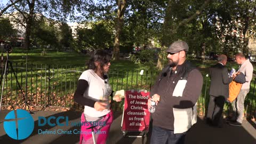
POLYGON ((186 132, 196 123, 196 102, 203 86, 202 74, 186 60, 188 44, 172 43, 166 50, 169 65, 158 75, 148 100, 157 106, 153 118, 151 144, 185 143, 186 132))

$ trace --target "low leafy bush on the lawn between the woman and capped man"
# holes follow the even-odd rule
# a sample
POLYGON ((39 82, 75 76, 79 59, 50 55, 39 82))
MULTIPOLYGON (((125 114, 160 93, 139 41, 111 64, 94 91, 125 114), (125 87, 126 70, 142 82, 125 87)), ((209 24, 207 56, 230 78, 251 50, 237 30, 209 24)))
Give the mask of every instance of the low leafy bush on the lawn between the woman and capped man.
POLYGON ((155 55, 155 51, 151 49, 142 50, 136 54, 131 55, 131 60, 135 64, 145 64, 148 65, 154 65, 154 61, 157 58, 157 55, 155 55))

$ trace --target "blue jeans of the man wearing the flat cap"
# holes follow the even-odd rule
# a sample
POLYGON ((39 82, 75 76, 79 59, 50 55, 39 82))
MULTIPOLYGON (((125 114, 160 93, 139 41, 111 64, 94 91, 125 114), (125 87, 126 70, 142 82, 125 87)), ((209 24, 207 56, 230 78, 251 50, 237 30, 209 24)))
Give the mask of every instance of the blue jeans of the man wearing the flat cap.
POLYGON ((174 134, 173 130, 167 130, 153 125, 150 144, 183 144, 185 143, 185 136, 186 132, 174 134))

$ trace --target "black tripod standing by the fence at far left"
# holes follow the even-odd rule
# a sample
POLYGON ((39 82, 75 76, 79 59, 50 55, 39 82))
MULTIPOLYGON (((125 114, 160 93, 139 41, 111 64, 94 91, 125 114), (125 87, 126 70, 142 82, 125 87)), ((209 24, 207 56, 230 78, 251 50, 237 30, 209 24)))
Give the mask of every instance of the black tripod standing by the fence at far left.
POLYGON ((16 78, 16 82, 17 82, 17 84, 18 84, 18 86, 19 86, 19 89, 20 89, 21 94, 22 94, 22 96, 23 96, 23 99, 24 99, 24 101, 25 101, 25 108, 26 108, 26 106, 27 106, 27 107, 28 107, 28 110, 29 110, 29 113, 30 113, 30 114, 34 114, 34 113, 32 113, 32 112, 30 111, 30 109, 29 109, 29 106, 28 106, 28 103, 27 103, 27 101, 26 101, 25 95, 23 94, 22 89, 21 89, 21 86, 20 86, 20 83, 19 83, 19 81, 18 81, 17 75, 15 74, 14 69, 13 69, 13 67, 12 67, 12 62, 9 61, 9 51, 8 51, 8 50, 6 51, 6 61, 5 61, 5 67, 4 67, 4 74, 3 74, 2 77, 1 77, 2 92, 1 92, 1 101, 0 101, 0 111, 1 111, 1 108, 2 108, 2 98, 3 98, 3 93, 4 93, 4 83, 5 83, 5 77, 6 77, 7 74, 8 74, 7 71, 8 71, 8 64, 9 64, 9 63, 10 63, 10 66, 11 66, 12 73, 14 74, 14 76, 15 76, 15 78, 16 78), (3 82, 2 82, 2 79, 3 79, 3 82))

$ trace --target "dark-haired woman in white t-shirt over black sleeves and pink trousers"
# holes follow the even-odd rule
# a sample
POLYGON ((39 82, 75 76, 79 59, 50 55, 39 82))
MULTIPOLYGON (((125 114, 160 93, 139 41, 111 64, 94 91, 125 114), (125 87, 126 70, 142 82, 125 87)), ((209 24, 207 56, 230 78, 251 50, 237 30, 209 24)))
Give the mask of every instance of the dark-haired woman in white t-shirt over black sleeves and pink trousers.
MULTIPOLYGON (((107 52, 95 51, 89 61, 88 70, 85 70, 78 79, 74 100, 84 105, 80 143, 93 143, 90 129, 92 126, 95 126, 93 129, 97 144, 107 141, 110 125, 113 122, 109 97, 113 91, 106 75, 110 68, 110 59, 111 56, 107 52)), ((122 99, 117 97, 115 100, 122 99)))

